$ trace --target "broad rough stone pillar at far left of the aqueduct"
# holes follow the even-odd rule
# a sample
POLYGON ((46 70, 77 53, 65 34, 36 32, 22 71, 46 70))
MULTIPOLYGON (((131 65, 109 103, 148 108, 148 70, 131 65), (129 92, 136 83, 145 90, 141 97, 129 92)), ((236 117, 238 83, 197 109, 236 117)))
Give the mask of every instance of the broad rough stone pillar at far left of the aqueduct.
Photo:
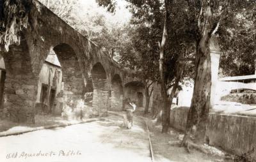
POLYGON ((36 79, 31 75, 6 73, 4 109, 14 122, 35 123, 36 79))

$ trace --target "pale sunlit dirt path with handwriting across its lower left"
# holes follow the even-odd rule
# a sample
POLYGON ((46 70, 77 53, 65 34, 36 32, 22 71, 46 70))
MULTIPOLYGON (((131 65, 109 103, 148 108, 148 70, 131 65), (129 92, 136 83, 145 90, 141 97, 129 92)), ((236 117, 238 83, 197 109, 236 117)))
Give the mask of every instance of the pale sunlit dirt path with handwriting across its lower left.
POLYGON ((151 161, 145 124, 140 119, 135 119, 132 129, 125 129, 122 123, 122 117, 109 115, 106 121, 2 137, 0 138, 0 161, 151 161), (65 155, 61 151, 65 152, 65 155), (79 154, 72 154, 72 151, 78 151, 79 154), (8 154, 16 154, 16 152, 16 158, 6 158, 8 154), (44 156, 36 156, 39 152, 44 156), (54 154, 50 156, 50 152, 54 154), (46 153, 47 156, 45 156, 46 153), (26 157, 26 154, 35 154, 35 156, 26 157))

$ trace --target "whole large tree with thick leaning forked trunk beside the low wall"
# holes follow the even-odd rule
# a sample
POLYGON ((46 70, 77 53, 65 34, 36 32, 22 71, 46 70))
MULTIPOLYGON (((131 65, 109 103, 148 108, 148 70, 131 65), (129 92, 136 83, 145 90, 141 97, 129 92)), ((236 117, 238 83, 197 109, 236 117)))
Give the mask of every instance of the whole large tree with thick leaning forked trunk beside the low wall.
POLYGON ((244 4, 248 5, 249 3, 255 5, 253 1, 188 1, 189 14, 193 13, 196 21, 196 76, 183 145, 189 145, 191 142, 204 143, 209 109, 211 108, 210 41, 213 36, 222 36, 217 34, 217 31, 227 20, 229 13, 234 12, 234 8, 239 8, 237 11, 241 11, 244 4))

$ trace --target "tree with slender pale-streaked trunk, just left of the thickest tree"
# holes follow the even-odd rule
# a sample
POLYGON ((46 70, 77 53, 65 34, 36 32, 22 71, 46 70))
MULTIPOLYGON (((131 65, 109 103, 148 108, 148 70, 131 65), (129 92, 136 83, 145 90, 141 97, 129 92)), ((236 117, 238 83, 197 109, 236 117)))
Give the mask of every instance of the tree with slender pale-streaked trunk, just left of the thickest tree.
MULTIPOLYGON (((139 19, 137 24, 147 22, 149 30, 152 33, 157 33, 157 36, 150 38, 150 41, 161 41, 159 47, 153 45, 152 47, 154 47, 156 54, 160 54, 159 71, 156 72, 160 75, 159 82, 161 83, 161 97, 163 99, 163 133, 168 131, 172 99, 177 91, 180 78, 183 77, 183 68, 179 68, 179 66, 183 66, 183 63, 179 63, 179 58, 184 57, 185 51, 191 47, 190 35, 187 33, 189 24, 186 24, 185 19, 187 17, 183 14, 185 10, 180 10, 182 3, 182 1, 164 1, 164 4, 161 1, 144 1, 143 3, 136 1, 130 6, 133 8, 134 17, 139 19), (161 8, 163 9, 161 10, 161 8), (170 87, 172 87, 172 94, 168 98, 167 89, 170 87)), ((141 40, 145 40, 145 36, 141 40)), ((154 60, 157 61, 158 59, 159 56, 155 55, 154 60)))

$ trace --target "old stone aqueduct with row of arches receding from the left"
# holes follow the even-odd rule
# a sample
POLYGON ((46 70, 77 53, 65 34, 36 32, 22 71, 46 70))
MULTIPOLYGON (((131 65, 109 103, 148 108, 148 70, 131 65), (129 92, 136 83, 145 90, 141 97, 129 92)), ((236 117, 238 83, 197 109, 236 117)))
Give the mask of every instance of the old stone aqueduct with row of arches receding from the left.
POLYGON ((33 20, 22 31, 20 45, 12 45, 9 52, 1 46, 0 51, 6 67, 4 108, 11 119, 35 120, 38 75, 51 49, 58 56, 65 82, 63 108, 83 105, 90 84, 94 115, 106 115, 109 102, 113 109, 123 107, 124 85, 133 80, 127 71, 38 1, 33 1, 29 14, 33 20))

